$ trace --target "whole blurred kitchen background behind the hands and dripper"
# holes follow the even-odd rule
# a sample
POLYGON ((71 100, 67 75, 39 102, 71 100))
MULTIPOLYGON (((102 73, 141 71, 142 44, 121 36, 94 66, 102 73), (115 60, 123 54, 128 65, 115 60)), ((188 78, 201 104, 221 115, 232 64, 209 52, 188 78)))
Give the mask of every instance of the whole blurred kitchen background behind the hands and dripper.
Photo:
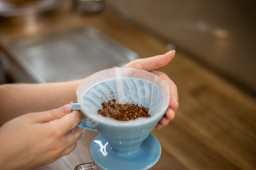
MULTIPOLYGON (((176 50, 176 118, 154 169, 256 169, 256 1, 0 0, 0 84, 76 80, 176 50)), ((42 166, 91 161, 96 132, 42 166)))

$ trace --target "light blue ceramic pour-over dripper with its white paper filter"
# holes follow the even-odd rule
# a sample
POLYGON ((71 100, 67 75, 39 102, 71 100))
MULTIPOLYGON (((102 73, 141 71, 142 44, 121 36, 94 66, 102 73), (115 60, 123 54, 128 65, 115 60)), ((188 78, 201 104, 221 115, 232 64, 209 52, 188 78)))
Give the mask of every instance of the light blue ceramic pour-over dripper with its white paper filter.
POLYGON ((72 104, 72 108, 81 109, 91 122, 81 121, 78 126, 100 133, 90 150, 97 166, 102 169, 149 169, 157 163, 161 147, 150 132, 169 105, 166 81, 140 69, 113 68, 86 78, 78 87, 77 95, 80 105, 72 104), (110 98, 116 98, 119 103, 129 101, 148 107, 151 117, 119 121, 98 115, 102 100, 110 98))

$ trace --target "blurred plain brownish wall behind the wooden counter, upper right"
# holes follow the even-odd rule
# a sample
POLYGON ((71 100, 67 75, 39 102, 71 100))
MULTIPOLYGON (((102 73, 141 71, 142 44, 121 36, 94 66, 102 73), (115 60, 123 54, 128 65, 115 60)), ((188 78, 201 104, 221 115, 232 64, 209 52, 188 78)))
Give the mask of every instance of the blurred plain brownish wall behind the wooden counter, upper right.
POLYGON ((123 18, 256 94, 256 1, 108 0, 123 18))

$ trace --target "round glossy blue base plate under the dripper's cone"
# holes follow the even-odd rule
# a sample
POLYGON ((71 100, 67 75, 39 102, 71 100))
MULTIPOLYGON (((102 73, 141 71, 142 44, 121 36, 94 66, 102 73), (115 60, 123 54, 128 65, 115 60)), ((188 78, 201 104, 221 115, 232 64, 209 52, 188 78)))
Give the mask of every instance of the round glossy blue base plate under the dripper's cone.
POLYGON ((91 142, 91 159, 101 169, 144 170, 150 169, 160 158, 161 145, 157 138, 149 134, 137 152, 118 152, 113 150, 101 134, 91 142))

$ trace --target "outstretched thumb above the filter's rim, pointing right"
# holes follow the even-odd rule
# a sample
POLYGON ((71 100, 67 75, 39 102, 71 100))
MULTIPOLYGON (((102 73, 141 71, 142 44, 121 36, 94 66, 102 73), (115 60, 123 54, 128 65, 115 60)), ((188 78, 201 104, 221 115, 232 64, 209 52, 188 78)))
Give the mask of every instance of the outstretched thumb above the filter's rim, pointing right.
POLYGON ((132 62, 127 63, 124 67, 131 67, 135 69, 143 69, 146 71, 151 71, 153 69, 158 69, 162 66, 167 65, 170 61, 173 60, 175 56, 175 50, 171 50, 164 55, 157 55, 150 58, 138 59, 132 62))

